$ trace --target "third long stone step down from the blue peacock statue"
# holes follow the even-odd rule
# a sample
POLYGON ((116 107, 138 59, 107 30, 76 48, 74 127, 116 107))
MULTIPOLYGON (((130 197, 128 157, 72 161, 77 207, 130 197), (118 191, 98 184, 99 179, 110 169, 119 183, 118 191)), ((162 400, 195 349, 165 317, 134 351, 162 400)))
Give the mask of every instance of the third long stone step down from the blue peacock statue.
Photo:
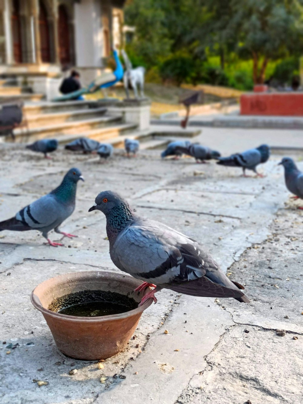
POLYGON ((104 127, 120 123, 120 116, 101 116, 79 121, 64 122, 61 124, 42 126, 38 128, 18 128, 14 130, 16 141, 35 141, 49 137, 60 137, 61 135, 85 133, 96 127, 104 127))

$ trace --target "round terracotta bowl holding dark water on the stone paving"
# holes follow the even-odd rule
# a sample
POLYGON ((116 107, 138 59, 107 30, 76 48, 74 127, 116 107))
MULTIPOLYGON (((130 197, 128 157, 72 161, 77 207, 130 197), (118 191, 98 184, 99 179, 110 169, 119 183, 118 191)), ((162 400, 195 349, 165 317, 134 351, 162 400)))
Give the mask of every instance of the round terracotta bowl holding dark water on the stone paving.
POLYGON ((125 313, 100 317, 67 316, 48 310, 48 305, 58 297, 80 290, 109 290, 128 295, 139 303, 149 291, 147 288, 140 294, 134 293, 141 283, 131 276, 112 272, 73 272, 40 283, 32 291, 31 301, 42 312, 62 353, 82 360, 106 359, 125 349, 152 299, 125 313))

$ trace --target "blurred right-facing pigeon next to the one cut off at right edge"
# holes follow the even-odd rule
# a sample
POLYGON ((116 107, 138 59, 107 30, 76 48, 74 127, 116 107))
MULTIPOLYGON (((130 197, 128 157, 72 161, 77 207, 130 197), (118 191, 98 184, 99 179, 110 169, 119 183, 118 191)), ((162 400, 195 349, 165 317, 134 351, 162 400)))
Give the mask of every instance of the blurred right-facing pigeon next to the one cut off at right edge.
POLYGON ((246 168, 254 171, 254 173, 257 174, 257 177, 264 177, 257 172, 256 168, 258 164, 266 163, 269 156, 269 146, 261 145, 255 149, 246 150, 243 153, 232 154, 229 157, 220 157, 217 164, 221 164, 222 166, 242 167, 243 177, 247 177, 247 175, 245 175, 246 168))

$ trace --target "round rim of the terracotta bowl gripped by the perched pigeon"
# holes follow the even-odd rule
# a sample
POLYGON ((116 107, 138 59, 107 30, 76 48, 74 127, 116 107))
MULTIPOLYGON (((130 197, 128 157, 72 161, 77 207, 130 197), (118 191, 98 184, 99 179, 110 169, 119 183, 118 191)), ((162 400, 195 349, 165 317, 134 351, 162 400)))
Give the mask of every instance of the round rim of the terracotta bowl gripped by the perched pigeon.
MULTIPOLYGON (((121 280, 124 280, 125 278, 130 278, 133 279, 134 281, 138 281, 140 282, 139 279, 133 278, 132 276, 128 276, 128 275, 122 275, 122 274, 116 274, 115 272, 109 272, 109 271, 79 271, 79 272, 68 272, 67 274, 61 274, 61 275, 57 275, 57 276, 53 276, 53 278, 49 278, 44 280, 43 282, 40 282, 36 288, 34 288, 34 290, 31 293, 31 302, 32 305, 39 311, 41 311, 42 314, 46 314, 47 316, 51 316, 54 318, 61 318, 61 319, 66 319, 69 321, 83 321, 83 322, 106 322, 106 321, 111 321, 111 320, 120 320, 122 318, 128 318, 130 316, 133 316, 135 314, 139 314, 139 313, 143 313, 143 311, 145 309, 147 309, 147 307, 149 307, 151 305, 151 303, 153 302, 153 299, 147 299, 142 306, 138 306, 133 310, 128 310, 125 311, 124 313, 118 313, 118 314, 109 314, 106 316, 95 316, 95 317, 82 317, 82 316, 69 316, 68 314, 61 314, 61 313, 57 313, 56 311, 52 311, 49 309, 46 309, 45 307, 42 306, 40 299, 38 297, 38 295, 35 294, 35 291, 37 288, 41 287, 44 283, 49 282, 50 280, 56 279, 59 280, 60 278, 67 278, 66 280, 68 280, 68 276, 71 274, 77 274, 80 275, 80 277, 85 277, 84 275, 88 275, 88 274, 97 274, 100 273, 106 275, 111 275, 111 276, 115 276, 117 278, 120 278, 121 280)), ((101 276, 101 278, 105 278, 105 276, 101 276)), ((142 281, 143 282, 143 281, 142 281)), ((139 286, 139 284, 138 284, 139 286)), ((143 296, 149 292, 149 288, 146 288, 143 296)), ((142 296, 142 297, 143 297, 142 296)), ((139 304, 139 303, 138 303, 139 304)))

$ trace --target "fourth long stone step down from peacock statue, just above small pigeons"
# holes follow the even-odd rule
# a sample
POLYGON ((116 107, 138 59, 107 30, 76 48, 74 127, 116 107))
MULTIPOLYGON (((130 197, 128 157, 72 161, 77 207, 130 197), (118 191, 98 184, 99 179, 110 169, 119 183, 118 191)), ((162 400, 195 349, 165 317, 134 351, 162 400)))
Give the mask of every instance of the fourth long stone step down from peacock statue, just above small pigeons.
POLYGON ((111 143, 115 146, 115 143, 120 143, 120 139, 128 137, 125 135, 128 132, 136 130, 135 124, 120 124, 114 126, 107 126, 100 128, 99 130, 90 130, 81 134, 62 135, 58 138, 60 144, 66 144, 80 137, 89 137, 90 139, 97 140, 99 142, 111 143), (124 134, 124 135, 122 135, 124 134))

